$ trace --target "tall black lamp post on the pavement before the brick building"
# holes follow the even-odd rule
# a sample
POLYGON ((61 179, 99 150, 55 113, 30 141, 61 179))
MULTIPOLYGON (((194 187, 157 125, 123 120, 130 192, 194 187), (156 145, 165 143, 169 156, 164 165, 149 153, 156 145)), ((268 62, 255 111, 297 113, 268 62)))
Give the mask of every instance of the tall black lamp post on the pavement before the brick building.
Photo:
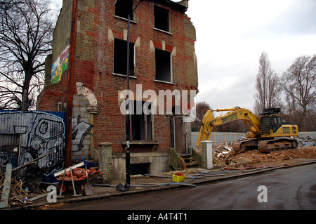
POLYGON ((124 185, 124 187, 119 184, 117 185, 117 190, 120 191, 127 191, 129 190, 129 187, 131 186, 131 174, 130 174, 130 162, 131 162, 131 155, 130 155, 130 151, 129 151, 129 141, 131 140, 131 130, 130 130, 130 121, 129 121, 129 110, 131 108, 129 108, 129 54, 130 54, 130 45, 129 45, 129 27, 130 27, 130 23, 131 23, 131 15, 133 14, 133 12, 136 10, 136 8, 138 7, 138 5, 140 4, 141 1, 145 1, 145 0, 140 0, 138 2, 138 4, 135 6, 135 8, 133 8, 133 10, 131 11, 131 13, 129 13, 129 15, 127 15, 127 69, 126 69, 126 117, 125 117, 125 124, 126 124, 126 151, 125 151, 125 160, 126 160, 126 183, 124 185))

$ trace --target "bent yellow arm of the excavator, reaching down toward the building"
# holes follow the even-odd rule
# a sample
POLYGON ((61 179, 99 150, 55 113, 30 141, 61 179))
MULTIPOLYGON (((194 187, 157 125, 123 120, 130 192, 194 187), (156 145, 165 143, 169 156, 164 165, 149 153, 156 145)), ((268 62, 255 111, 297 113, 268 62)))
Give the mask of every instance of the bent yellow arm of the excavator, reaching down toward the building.
POLYGON ((225 124, 230 121, 242 120, 251 131, 253 138, 260 137, 260 118, 248 109, 233 107, 230 109, 208 110, 201 122, 199 137, 197 138, 196 150, 200 150, 200 143, 209 140, 213 126, 225 124), (213 117, 213 112, 226 112, 218 117, 213 117))

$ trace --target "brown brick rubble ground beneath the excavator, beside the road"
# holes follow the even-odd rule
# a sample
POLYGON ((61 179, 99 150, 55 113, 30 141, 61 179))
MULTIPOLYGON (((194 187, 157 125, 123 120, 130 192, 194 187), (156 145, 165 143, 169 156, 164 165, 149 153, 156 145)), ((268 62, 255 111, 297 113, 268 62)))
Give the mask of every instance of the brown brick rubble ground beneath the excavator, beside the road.
MULTIPOLYGON (((228 147, 226 147, 228 149, 228 147)), ((290 159, 316 159, 316 146, 298 147, 297 149, 262 153, 258 150, 250 150, 235 154, 233 150, 222 152, 213 151, 213 166, 239 166, 254 165, 258 163, 278 162, 290 159), (235 155, 234 155, 235 154, 235 155)))

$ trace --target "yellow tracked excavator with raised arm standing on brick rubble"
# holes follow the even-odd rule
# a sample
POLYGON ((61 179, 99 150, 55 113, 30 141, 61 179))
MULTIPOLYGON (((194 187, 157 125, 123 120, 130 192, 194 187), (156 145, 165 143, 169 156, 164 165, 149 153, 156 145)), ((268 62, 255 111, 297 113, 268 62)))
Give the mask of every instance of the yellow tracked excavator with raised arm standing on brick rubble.
MULTIPOLYGON (((298 126, 293 124, 282 124, 279 108, 269 108, 261 113, 260 117, 248 109, 233 107, 230 109, 208 110, 202 119, 199 138, 196 149, 200 150, 200 143, 209 140, 213 126, 225 124, 230 121, 242 120, 249 129, 246 140, 239 140, 232 145, 235 152, 244 150, 259 150, 260 152, 271 152, 273 150, 284 150, 297 148, 298 126), (213 117, 213 112, 225 112, 218 117, 213 117)), ((289 123, 289 122, 287 122, 289 123)))

